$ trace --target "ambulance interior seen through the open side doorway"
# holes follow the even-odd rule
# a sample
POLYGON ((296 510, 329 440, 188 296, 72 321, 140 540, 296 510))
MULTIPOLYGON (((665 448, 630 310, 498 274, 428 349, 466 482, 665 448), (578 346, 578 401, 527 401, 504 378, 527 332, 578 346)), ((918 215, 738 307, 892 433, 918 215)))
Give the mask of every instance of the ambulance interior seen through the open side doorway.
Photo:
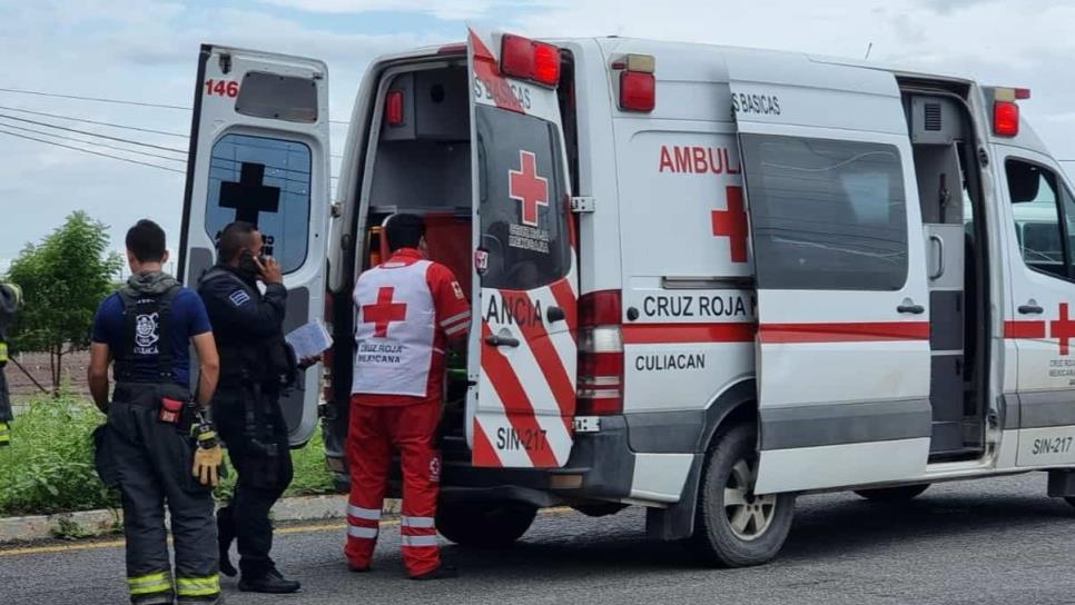
POLYGON ((988 272, 975 132, 956 83, 901 82, 929 280, 930 462, 986 453, 988 272), (970 168, 968 170, 968 168, 970 168))

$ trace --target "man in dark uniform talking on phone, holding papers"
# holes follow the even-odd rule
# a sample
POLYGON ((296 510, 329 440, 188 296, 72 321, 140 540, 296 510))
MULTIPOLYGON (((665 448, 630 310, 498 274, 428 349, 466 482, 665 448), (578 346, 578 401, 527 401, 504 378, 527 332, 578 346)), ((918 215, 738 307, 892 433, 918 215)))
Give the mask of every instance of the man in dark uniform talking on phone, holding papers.
POLYGON ((287 289, 279 265, 263 257, 262 247, 262 234, 254 225, 236 221, 225 227, 217 242, 217 264, 201 277, 199 294, 220 350, 220 387, 213 414, 238 473, 235 497, 217 514, 220 569, 235 575, 228 549, 237 538, 239 589, 284 594, 297 592, 300 585, 285 579, 269 557, 268 514, 292 483, 279 396, 297 379, 297 371, 283 334, 287 289), (264 295, 258 280, 265 284, 264 295))

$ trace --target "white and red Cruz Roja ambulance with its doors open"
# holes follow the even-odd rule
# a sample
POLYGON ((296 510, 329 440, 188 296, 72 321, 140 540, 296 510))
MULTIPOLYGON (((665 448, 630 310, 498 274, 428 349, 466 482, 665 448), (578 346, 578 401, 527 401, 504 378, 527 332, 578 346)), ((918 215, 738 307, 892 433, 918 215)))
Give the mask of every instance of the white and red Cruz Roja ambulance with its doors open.
MULTIPOLYGON (((372 65, 334 199, 327 93, 320 61, 201 48, 180 264, 250 220, 286 328, 324 311, 324 375, 285 406, 342 482, 352 289, 415 212, 476 311, 441 435, 455 543, 641 506, 651 537, 743 566, 799 494, 1044 470, 1075 503, 1075 187, 1028 90, 472 29, 372 65)), ((363 319, 405 317, 383 302, 363 319)))

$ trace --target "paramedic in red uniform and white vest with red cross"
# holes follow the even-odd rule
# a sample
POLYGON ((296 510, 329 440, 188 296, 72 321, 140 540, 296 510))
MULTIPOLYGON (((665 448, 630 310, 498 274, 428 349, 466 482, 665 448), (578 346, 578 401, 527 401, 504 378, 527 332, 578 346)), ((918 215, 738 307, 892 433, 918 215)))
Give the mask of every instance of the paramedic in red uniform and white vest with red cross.
POLYGON ((347 563, 369 569, 393 449, 403 470, 403 559, 413 579, 454 577, 441 565, 436 450, 445 348, 465 341, 471 309, 451 269, 425 258, 425 224, 394 215, 384 230, 392 257, 355 285, 355 377, 347 456, 347 563))

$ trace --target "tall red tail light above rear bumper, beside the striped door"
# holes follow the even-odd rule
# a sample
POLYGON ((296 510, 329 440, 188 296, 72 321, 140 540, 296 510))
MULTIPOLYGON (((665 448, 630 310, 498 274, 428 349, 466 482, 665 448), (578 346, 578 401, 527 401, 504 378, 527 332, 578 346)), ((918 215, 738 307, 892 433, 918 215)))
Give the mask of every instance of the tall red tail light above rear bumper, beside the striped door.
POLYGON ((619 290, 579 299, 580 416, 623 413, 623 331, 619 290))

